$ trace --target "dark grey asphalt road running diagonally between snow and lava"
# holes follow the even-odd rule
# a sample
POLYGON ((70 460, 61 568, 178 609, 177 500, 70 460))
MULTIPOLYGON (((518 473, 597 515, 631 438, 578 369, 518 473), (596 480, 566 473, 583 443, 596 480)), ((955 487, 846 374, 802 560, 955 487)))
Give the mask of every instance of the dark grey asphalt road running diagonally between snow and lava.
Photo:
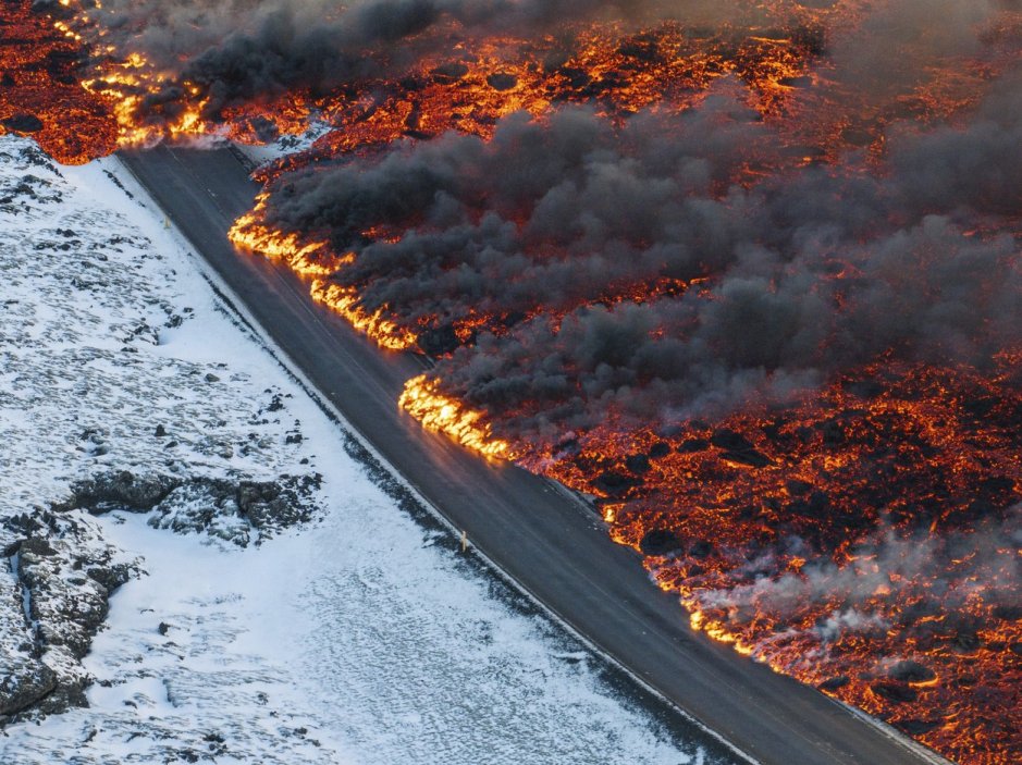
POLYGON ((160 147, 122 159, 262 330, 359 434, 538 601, 697 720, 764 765, 933 762, 822 693, 693 632, 638 555, 547 481, 490 464, 398 410, 423 370, 315 304, 286 268, 225 233, 258 190, 229 150, 160 147))

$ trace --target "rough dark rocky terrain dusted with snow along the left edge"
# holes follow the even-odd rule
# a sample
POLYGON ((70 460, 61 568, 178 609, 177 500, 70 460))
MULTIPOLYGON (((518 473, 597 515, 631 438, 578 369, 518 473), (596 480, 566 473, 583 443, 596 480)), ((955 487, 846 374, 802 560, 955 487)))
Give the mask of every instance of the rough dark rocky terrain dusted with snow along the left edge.
POLYGON ((279 391, 161 353, 195 311, 175 306, 147 237, 30 143, 3 139, 0 162, 3 726, 86 704, 81 661, 141 571, 90 516, 151 511, 245 546, 308 521, 320 477, 308 458, 290 459, 298 474, 276 461, 301 443, 279 391))

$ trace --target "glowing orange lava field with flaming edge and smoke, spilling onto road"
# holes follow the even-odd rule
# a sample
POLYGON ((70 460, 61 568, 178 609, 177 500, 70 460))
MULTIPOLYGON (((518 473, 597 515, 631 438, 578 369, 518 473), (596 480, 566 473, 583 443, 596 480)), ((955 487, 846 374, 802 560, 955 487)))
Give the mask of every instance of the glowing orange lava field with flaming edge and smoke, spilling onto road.
POLYGON ((433 357, 404 409, 591 495, 697 629, 1018 762, 1018 2, 36 5, 0 125, 316 125, 231 236, 433 357))

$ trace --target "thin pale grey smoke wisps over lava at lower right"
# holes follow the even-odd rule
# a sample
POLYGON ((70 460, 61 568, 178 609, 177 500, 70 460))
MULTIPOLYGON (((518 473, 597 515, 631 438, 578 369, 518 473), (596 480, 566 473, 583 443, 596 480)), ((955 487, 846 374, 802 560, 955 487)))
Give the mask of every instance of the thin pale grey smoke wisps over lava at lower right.
MULTIPOLYGON (((879 529, 850 551, 849 563, 821 558, 792 573, 769 567, 764 572, 760 560, 749 584, 701 589, 697 580, 694 602, 738 632, 764 617, 792 626, 759 646, 767 659, 792 642, 883 641, 891 631, 906 645, 953 651, 969 645, 992 612, 1015 602, 1022 585, 1020 521, 1015 507, 1000 520, 943 536, 879 529)), ((823 654, 814 651, 805 661, 818 663, 823 654)))

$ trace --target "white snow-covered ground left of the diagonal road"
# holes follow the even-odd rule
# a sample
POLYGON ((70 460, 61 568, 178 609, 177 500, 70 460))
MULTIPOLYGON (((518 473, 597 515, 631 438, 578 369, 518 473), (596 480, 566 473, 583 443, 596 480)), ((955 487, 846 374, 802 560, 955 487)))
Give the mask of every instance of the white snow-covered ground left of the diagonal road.
POLYGON ((370 480, 115 160, 0 138, 0 691, 93 680, 88 708, 8 725, 0 763, 709 761, 370 480), (122 470, 322 488, 297 525, 194 488, 48 513, 122 470), (101 618, 112 577, 81 658, 52 622, 101 618))

